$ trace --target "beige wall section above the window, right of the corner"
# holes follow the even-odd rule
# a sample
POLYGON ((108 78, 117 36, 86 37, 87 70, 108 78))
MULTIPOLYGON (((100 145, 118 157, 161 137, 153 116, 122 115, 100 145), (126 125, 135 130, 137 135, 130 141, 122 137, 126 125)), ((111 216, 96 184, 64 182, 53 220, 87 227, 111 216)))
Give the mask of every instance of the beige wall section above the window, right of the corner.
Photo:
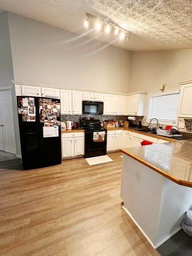
POLYGON ((131 52, 129 92, 179 88, 177 82, 192 79, 192 49, 131 52))

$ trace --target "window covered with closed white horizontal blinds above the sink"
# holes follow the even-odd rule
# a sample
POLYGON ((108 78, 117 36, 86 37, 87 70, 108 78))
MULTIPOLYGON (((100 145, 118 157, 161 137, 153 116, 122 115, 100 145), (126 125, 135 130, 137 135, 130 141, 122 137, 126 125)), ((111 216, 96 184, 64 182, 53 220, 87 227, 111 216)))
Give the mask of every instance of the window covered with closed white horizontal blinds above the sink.
POLYGON ((179 92, 152 95, 148 120, 157 118, 160 123, 176 123, 178 104, 179 92))

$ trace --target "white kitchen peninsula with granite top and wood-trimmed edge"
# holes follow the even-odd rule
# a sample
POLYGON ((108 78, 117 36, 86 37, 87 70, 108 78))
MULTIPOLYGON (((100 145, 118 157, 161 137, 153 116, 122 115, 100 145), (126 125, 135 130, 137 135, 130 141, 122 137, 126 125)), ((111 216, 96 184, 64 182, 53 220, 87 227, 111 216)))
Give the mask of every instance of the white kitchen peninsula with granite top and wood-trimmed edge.
POLYGON ((181 228, 192 207, 192 142, 121 149, 123 208, 154 248, 181 228))

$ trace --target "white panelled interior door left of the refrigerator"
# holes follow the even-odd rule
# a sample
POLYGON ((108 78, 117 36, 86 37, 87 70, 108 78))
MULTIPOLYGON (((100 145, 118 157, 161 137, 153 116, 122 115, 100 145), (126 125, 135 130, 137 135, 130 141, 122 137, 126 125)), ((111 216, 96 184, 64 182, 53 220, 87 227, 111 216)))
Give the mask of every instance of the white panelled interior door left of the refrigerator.
POLYGON ((4 150, 16 154, 13 106, 10 90, 0 91, 0 116, 4 138, 4 150))

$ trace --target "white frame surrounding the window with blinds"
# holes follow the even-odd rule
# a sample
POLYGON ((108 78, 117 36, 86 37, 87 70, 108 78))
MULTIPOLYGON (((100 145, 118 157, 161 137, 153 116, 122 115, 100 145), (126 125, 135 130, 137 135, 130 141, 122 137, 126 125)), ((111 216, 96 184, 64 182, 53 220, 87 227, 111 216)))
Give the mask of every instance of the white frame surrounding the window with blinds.
MULTIPOLYGON (((146 122, 149 123, 150 121, 150 118, 148 116, 149 114, 149 105, 150 105, 150 98, 152 96, 160 96, 160 95, 166 95, 166 94, 174 94, 174 93, 180 93, 180 89, 178 88, 174 88, 174 89, 171 89, 171 90, 166 90, 165 92, 151 92, 148 94, 148 103, 147 103, 147 114, 146 114, 146 122)), ((178 108, 178 111, 179 111, 179 108, 178 108)), ((158 120, 159 121, 159 120, 158 120)), ((152 121, 151 122, 152 124, 156 124, 156 121, 152 121)), ((175 123, 173 122, 161 122, 159 121, 159 124, 167 124, 167 125, 172 125, 172 126, 178 126, 178 112, 177 112, 177 118, 176 118, 176 121, 175 123)))

